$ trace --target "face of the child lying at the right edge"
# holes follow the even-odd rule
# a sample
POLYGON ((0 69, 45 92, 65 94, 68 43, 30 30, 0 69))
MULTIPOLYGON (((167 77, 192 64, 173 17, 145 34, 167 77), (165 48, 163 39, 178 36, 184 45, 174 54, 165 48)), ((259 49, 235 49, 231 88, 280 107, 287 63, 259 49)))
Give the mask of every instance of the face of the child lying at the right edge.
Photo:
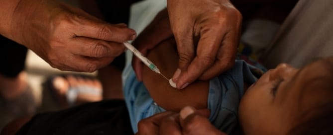
MULTIPOLYGON (((239 120, 246 135, 286 134, 300 112, 309 112, 332 83, 333 57, 296 69, 281 64, 251 85, 239 105, 239 120)), ((317 105, 318 106, 318 105, 317 105)))

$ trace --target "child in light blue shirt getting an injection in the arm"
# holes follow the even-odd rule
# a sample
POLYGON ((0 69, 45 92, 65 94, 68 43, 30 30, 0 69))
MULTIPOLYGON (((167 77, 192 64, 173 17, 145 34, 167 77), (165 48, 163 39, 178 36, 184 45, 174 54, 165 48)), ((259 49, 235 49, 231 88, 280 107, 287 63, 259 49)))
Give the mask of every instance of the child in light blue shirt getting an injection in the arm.
MULTIPOLYGON (((174 40, 161 43, 147 57, 170 77, 178 60, 174 40)), ((234 68, 218 77, 196 81, 178 90, 149 68, 143 69, 143 82, 138 82, 127 63, 123 72, 124 95, 134 133, 141 119, 190 105, 208 108, 212 124, 232 134, 237 127, 241 98, 239 119, 246 135, 301 134, 316 127, 318 122, 321 126, 317 128, 330 129, 331 124, 326 125, 325 119, 333 112, 333 57, 302 70, 281 64, 253 85, 255 77, 249 68, 244 62, 236 61, 234 68)))

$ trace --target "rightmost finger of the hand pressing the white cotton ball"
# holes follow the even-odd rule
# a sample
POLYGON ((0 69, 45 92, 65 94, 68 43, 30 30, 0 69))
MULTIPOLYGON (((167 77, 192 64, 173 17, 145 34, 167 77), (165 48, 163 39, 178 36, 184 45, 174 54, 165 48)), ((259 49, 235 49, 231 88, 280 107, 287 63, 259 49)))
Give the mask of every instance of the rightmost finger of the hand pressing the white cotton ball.
POLYGON ((237 34, 228 33, 219 49, 217 59, 212 67, 207 69, 200 77, 202 80, 210 79, 223 71, 231 68, 234 65, 237 53, 238 38, 237 34))

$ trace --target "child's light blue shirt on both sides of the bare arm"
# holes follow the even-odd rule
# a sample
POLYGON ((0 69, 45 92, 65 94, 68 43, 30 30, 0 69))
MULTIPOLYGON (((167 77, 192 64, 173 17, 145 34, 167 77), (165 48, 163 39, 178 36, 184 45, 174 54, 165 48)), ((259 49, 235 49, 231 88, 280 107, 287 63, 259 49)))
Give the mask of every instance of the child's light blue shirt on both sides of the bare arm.
MULTIPOLYGON (((215 127, 227 134, 232 134, 237 127, 238 104, 244 94, 243 81, 248 84, 256 81, 244 61, 236 61, 233 68, 210 80, 208 107, 211 110, 211 117, 209 119, 215 127)), ((130 63, 126 63, 122 82, 131 126, 136 133, 137 123, 140 120, 164 112, 165 109, 154 103, 144 84, 136 79, 130 63)))

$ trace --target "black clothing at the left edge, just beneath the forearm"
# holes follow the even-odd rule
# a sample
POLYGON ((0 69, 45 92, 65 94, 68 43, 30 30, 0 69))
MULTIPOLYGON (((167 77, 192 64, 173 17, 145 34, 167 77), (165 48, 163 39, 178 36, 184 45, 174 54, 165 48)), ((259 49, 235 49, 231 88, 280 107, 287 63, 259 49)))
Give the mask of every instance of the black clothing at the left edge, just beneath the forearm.
POLYGON ((14 78, 25 68, 27 48, 0 35, 0 74, 14 78))

